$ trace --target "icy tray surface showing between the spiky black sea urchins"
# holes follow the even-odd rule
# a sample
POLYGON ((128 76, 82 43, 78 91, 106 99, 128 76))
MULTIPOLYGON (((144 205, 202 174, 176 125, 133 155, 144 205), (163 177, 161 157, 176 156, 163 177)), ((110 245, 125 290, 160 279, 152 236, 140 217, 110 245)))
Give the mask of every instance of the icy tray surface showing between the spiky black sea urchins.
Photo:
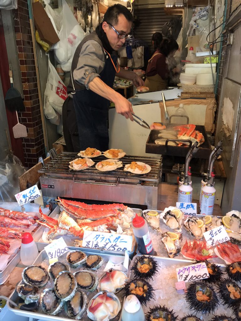
MULTIPOLYGON (((129 280, 131 280, 133 278, 133 272, 131 271, 131 267, 133 266, 134 262, 140 256, 141 256, 141 254, 137 254, 136 256, 133 257, 133 259, 131 261, 131 264, 129 266, 129 280)), ((164 257, 158 257, 158 256, 153 256, 153 258, 157 261, 157 263, 159 263, 159 265, 163 265, 163 268, 168 269, 169 272, 171 270, 171 266, 172 265, 175 265, 175 267, 173 267, 173 269, 175 269, 175 268, 178 268, 178 267, 183 267, 183 266, 186 266, 186 265, 192 265, 193 264, 193 261, 190 261, 190 260, 182 260, 182 259, 176 260, 176 259, 172 259, 172 258, 164 258, 164 257)), ((225 265, 219 265, 219 266, 221 267, 221 269, 225 268, 225 265)), ((180 303, 179 300, 184 299, 184 295, 177 293, 175 291, 175 288, 172 287, 172 283, 171 283, 171 288, 169 288, 169 289, 170 289, 170 293, 173 293, 173 292, 175 293, 175 301, 174 301, 175 302, 175 306, 170 306, 169 302, 165 303, 164 300, 166 298, 162 293, 162 289, 158 288, 158 280, 159 279, 163 279, 163 274, 162 274, 161 270, 156 274, 156 276, 153 279, 153 281, 149 281, 149 283, 154 288, 154 299, 147 303, 147 307, 145 307, 144 305, 142 306, 144 313, 147 313, 149 308, 152 308, 155 305, 163 306, 165 304, 167 306, 167 308, 170 308, 171 310, 174 309, 174 313, 178 316, 178 319, 181 319, 183 317, 183 315, 180 315, 182 312, 180 313, 180 311, 181 311, 181 308, 180 308, 181 303, 180 303), (161 291, 161 293, 160 293, 160 291, 161 291), (158 298, 158 294, 160 295, 160 298, 158 298)), ((175 282, 177 282, 177 279, 176 279, 175 282)), ((166 288, 168 288, 169 284, 170 283, 168 282, 168 279, 166 279, 166 288)), ((188 287, 189 284, 191 284, 191 282, 186 283, 186 286, 188 287)), ((215 292, 217 293, 217 291, 215 291, 215 292)), ((168 298, 168 301, 169 301, 170 297, 167 297, 167 298, 168 298)), ((123 307, 123 305, 122 305, 122 307, 123 307)), ((227 306, 225 306, 225 307, 226 307, 226 309, 228 309, 227 306)), ((185 311, 185 315, 193 314, 193 313, 196 314, 195 312, 190 311, 188 308, 185 311)), ((216 314, 220 314, 220 313, 216 313, 216 311, 215 311, 214 314, 216 315, 216 314)), ((201 317, 201 316, 203 317, 203 314, 199 312, 197 317, 201 317)), ((210 313, 209 315, 205 315, 204 316, 204 320, 205 321, 209 321, 212 317, 213 317, 213 314, 210 313)))

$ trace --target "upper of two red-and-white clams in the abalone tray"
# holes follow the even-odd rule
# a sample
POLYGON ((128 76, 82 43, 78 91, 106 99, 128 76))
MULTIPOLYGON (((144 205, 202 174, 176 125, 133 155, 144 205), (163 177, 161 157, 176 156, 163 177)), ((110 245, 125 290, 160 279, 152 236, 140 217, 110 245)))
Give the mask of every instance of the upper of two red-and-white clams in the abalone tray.
POLYGON ((102 274, 97 290, 117 293, 125 287, 125 282, 127 281, 128 276, 126 273, 121 270, 109 269, 102 274))

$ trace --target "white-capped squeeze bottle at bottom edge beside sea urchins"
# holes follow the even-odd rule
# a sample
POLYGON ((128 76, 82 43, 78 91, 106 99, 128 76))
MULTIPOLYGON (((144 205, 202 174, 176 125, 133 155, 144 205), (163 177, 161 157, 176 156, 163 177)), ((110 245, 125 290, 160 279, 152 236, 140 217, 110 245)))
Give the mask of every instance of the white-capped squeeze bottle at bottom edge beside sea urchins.
POLYGON ((121 321, 145 321, 145 315, 139 300, 133 294, 125 299, 124 307, 121 313, 121 321))

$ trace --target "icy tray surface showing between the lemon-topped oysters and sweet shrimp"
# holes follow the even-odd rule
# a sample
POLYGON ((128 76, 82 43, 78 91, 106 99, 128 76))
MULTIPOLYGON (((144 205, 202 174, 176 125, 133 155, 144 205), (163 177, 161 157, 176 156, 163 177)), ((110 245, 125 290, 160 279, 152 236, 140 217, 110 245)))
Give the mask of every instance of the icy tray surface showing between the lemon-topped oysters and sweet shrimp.
MULTIPOLYGON (((150 211, 150 209, 144 210, 142 213, 146 213, 148 211, 150 211)), ((156 212, 158 214, 162 213, 162 211, 156 211, 156 212)), ((200 214, 197 214, 196 216, 197 217, 204 217, 204 215, 200 215, 200 214)), ((217 216, 217 217, 221 218, 221 216, 217 216)), ((164 248, 164 245, 163 245, 162 241, 160 240, 160 232, 157 232, 156 230, 153 230, 150 227, 149 224, 148 224, 148 227, 149 227, 149 232, 150 232, 150 236, 151 236, 151 239, 152 239, 153 248, 154 248, 154 251, 156 252, 156 256, 168 258, 169 256, 167 255, 167 252, 166 252, 166 250, 164 248)), ((167 231, 172 231, 165 225, 165 223, 162 220, 160 220, 160 228, 161 228, 163 233, 167 232, 167 231)), ((195 239, 194 236, 192 236, 186 230, 186 228, 184 226, 182 227, 181 233, 183 234, 183 239, 181 241, 181 247, 184 245, 186 239, 191 240, 191 241, 195 239)), ((187 260, 187 259, 184 258, 182 253, 179 253, 177 256, 175 256, 173 258, 173 260, 179 261, 179 260, 187 260)), ((216 263, 216 264, 219 264, 219 265, 223 265, 223 262, 224 262, 220 257, 215 257, 212 261, 213 261, 213 263, 216 263)))

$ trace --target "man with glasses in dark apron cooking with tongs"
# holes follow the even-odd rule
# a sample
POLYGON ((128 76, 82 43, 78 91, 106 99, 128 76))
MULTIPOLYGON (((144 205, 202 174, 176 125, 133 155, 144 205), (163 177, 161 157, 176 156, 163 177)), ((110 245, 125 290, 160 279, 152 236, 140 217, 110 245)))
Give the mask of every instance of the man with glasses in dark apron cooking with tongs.
MULTIPOLYGON (((121 68, 117 63, 117 56, 112 55, 129 37, 132 20, 132 14, 125 6, 115 4, 109 7, 103 22, 76 49, 68 86, 68 93, 73 96, 79 134, 79 150, 75 151, 85 150, 87 147, 100 151, 109 148, 110 101, 114 102, 117 113, 133 120, 131 103, 112 89, 116 75, 132 80, 136 87, 144 85, 138 75, 121 68)), ((74 124, 73 110, 70 111, 71 108, 67 107, 68 103, 65 105, 64 133, 65 118, 68 119, 68 115, 72 114, 68 123, 71 126, 74 124)))

